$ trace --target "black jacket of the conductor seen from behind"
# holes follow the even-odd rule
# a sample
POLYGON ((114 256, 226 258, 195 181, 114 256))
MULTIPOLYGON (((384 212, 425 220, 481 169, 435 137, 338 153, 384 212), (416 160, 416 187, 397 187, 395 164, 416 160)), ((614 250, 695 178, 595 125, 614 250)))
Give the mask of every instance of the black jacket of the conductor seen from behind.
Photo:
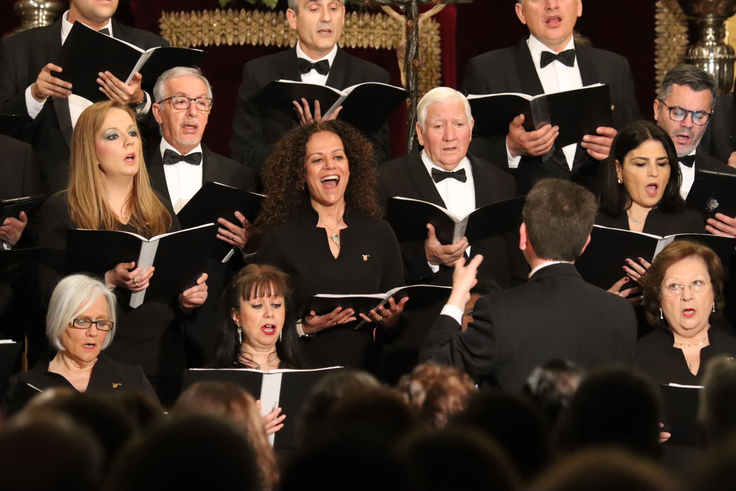
POLYGON ((523 286, 480 297, 467 331, 441 315, 420 359, 495 378, 520 391, 534 367, 566 359, 586 370, 634 361, 637 320, 629 302, 585 283, 573 264, 539 269, 523 286))

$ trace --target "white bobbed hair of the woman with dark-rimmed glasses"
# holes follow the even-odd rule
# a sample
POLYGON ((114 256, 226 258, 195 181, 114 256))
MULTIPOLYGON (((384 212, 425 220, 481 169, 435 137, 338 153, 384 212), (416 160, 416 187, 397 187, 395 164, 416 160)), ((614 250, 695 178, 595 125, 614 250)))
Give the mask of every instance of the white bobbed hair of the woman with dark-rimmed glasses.
POLYGON ((70 275, 63 278, 54 288, 46 314, 46 337, 57 348, 64 350, 61 336, 69 324, 85 310, 90 308, 99 297, 107 302, 107 317, 113 322, 113 328, 107 331, 102 349, 110 346, 115 336, 116 299, 115 294, 107 289, 105 283, 88 275, 70 275))

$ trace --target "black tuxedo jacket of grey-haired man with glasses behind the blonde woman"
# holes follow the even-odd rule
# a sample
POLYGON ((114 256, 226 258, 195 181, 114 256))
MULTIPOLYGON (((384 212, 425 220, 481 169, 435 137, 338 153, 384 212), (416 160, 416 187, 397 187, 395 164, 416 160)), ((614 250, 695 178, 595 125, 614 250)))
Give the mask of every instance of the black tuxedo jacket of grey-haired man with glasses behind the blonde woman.
MULTIPOLYGON (((169 186, 166 184, 158 144, 146 152, 146 168, 151 177, 151 186, 160 196, 170 201, 169 186)), ((207 181, 233 186, 243 191, 255 191, 255 177, 250 169, 202 145, 202 184, 207 181)), ((213 356, 217 340, 216 326, 220 315, 219 298, 222 296, 226 280, 243 266, 242 256, 238 251, 233 254, 230 261, 222 262, 228 246, 221 240, 216 239, 216 247, 213 249, 217 253, 213 253, 205 267, 208 275, 208 300, 184 321, 185 356, 189 367, 203 367, 213 356)))

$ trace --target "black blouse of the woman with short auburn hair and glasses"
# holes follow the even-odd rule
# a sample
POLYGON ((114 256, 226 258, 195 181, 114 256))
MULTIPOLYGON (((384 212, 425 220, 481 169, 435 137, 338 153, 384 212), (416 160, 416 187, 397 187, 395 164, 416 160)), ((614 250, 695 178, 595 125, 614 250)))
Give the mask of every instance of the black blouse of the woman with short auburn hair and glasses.
POLYGON ((710 344, 701 348, 698 375, 693 375, 682 350, 675 347, 674 342, 675 337, 669 329, 657 329, 637 341, 637 365, 658 384, 702 385, 708 361, 724 356, 736 358, 736 338, 711 325, 708 329, 710 344))

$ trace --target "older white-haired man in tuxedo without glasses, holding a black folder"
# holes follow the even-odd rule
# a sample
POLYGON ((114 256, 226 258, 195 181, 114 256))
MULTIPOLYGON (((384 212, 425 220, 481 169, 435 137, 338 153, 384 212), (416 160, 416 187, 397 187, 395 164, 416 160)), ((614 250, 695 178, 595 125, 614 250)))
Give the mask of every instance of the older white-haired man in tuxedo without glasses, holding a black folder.
MULTIPOLYGON (((405 197, 465 216, 475 208, 516 196, 514 177, 467 152, 473 116, 465 96, 452 88, 434 88, 417 105, 417 119, 417 138, 424 149, 378 167, 378 195, 384 209, 389 198, 405 197)), ((517 233, 478 241, 470 247, 465 238, 455 244, 440 244, 434 227, 427 224, 427 229, 424 241, 400 244, 407 284, 450 286, 452 266, 467 253, 488 258, 481 275, 500 286, 526 280, 529 270, 517 248, 517 233)), ((394 333, 383 353, 389 381, 417 364, 422 340, 441 309, 439 303, 411 312, 406 328, 394 333)))

